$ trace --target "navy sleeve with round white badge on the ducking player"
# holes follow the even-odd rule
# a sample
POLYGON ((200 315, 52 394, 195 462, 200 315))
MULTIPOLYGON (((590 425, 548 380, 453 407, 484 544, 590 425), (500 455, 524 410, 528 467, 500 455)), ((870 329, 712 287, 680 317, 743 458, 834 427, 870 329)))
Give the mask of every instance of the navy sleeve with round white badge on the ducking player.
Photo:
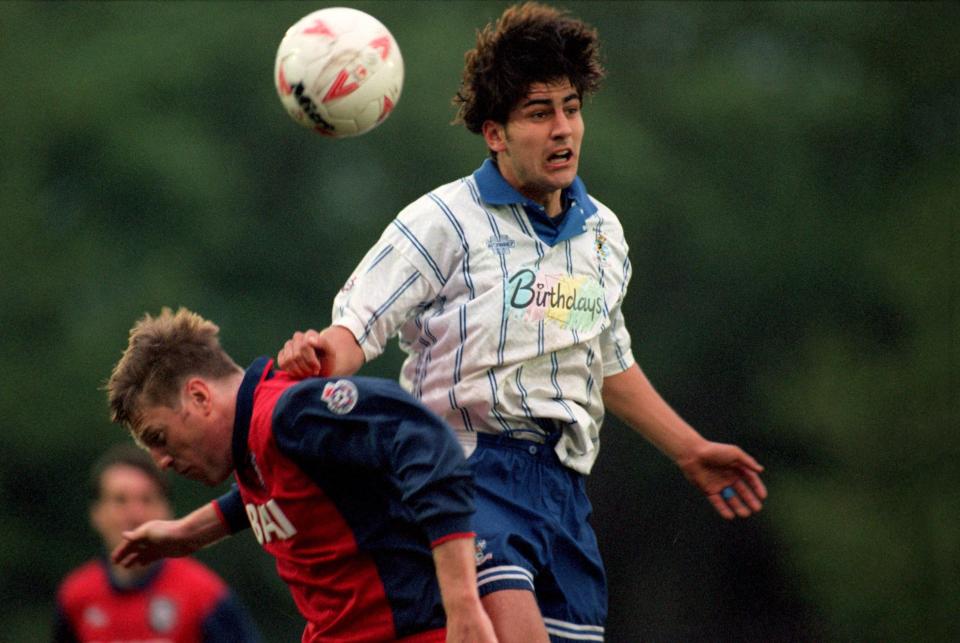
POLYGON ((470 532, 473 474, 453 431, 395 382, 311 378, 274 410, 281 451, 310 466, 380 471, 431 542, 470 532))

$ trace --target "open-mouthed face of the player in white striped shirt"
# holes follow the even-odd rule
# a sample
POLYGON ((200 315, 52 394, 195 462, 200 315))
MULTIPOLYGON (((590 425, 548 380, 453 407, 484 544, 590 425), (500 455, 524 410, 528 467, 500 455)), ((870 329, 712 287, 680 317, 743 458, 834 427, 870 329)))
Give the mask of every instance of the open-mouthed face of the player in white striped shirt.
POLYGON ((580 94, 568 80, 534 83, 505 125, 484 123, 503 178, 518 192, 560 213, 560 191, 573 183, 580 162, 580 94))

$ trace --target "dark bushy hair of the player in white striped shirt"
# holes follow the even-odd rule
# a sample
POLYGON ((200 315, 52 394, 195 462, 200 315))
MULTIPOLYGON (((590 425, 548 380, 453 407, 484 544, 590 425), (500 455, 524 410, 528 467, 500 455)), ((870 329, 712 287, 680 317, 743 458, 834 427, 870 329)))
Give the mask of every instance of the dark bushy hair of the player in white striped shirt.
POLYGON ((599 58, 597 32, 581 20, 536 2, 508 7, 466 53, 454 122, 474 134, 484 121, 506 123, 534 83, 569 79, 586 96, 603 79, 599 58))

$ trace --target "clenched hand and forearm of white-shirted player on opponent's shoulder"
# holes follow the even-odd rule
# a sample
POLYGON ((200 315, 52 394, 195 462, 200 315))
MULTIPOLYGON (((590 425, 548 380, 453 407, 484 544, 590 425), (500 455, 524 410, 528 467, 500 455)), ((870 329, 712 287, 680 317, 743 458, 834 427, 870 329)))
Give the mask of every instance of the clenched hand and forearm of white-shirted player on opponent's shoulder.
POLYGON ((277 365, 294 377, 353 375, 363 366, 363 349, 343 326, 293 334, 277 353, 277 365))

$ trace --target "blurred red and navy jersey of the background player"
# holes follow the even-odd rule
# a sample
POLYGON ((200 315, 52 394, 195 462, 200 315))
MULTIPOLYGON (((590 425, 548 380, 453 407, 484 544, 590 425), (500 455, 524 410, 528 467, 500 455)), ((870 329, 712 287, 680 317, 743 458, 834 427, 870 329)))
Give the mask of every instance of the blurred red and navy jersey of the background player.
POLYGON ((102 643, 259 641, 249 616, 219 576, 189 558, 157 563, 121 586, 105 559, 71 572, 57 593, 53 640, 102 643))

